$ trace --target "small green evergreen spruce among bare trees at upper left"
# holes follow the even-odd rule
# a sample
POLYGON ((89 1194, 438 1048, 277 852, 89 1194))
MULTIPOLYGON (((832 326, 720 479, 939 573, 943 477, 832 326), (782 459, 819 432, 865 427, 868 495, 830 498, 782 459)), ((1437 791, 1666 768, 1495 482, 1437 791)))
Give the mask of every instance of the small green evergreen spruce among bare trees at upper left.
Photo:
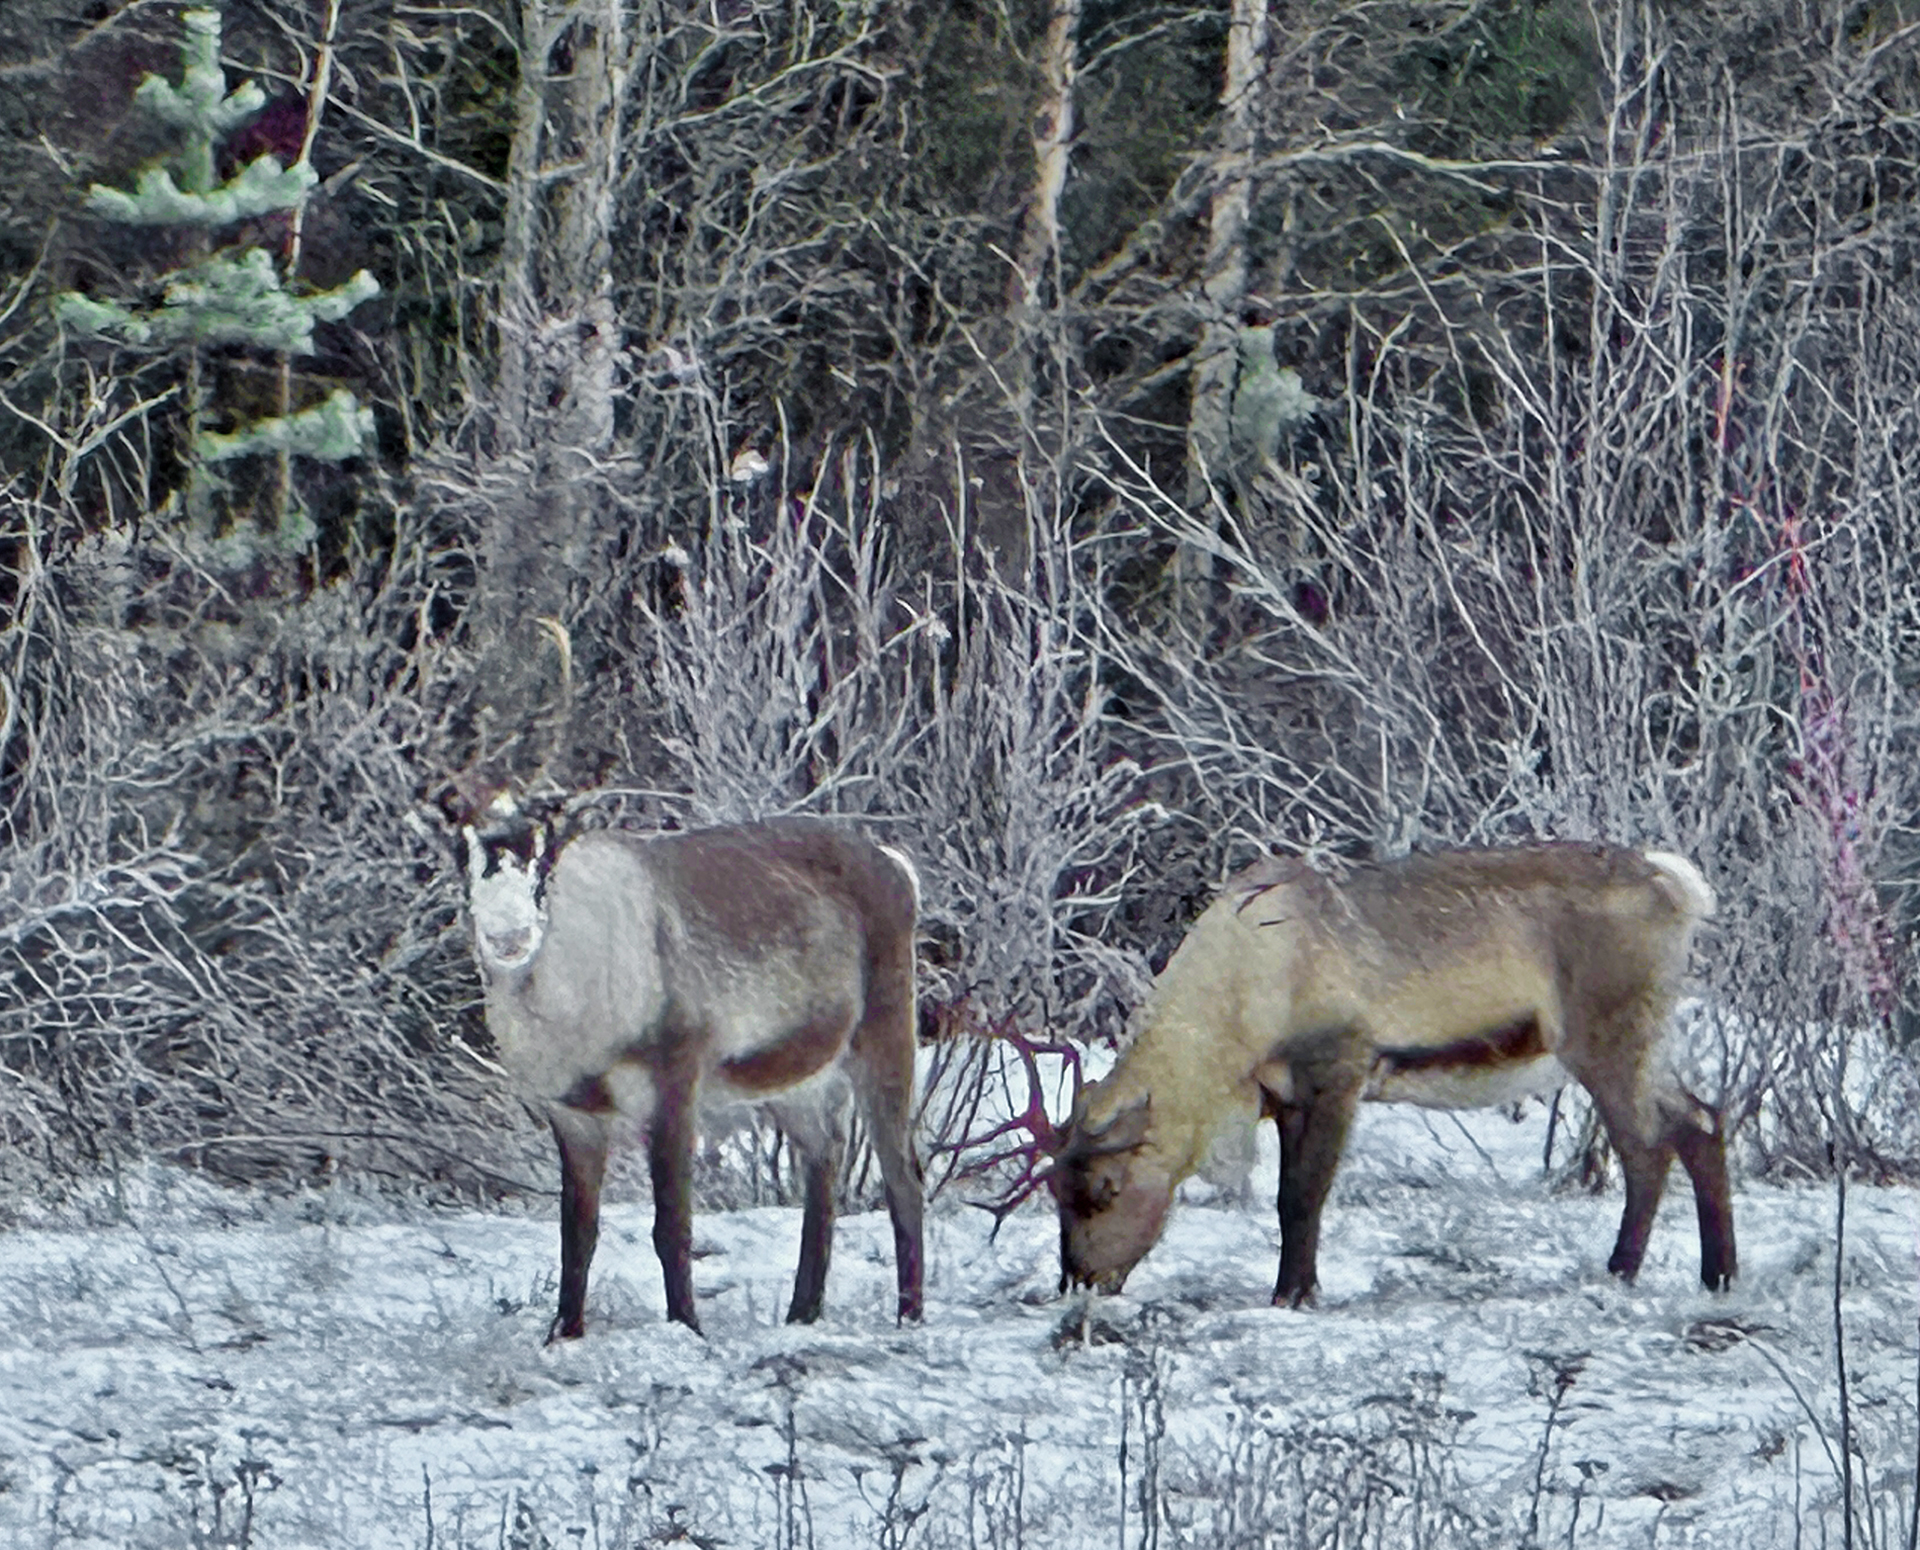
MULTIPOLYGON (((278 157, 261 156, 227 182, 217 182, 215 146, 259 113, 267 100, 252 81, 227 90, 219 12, 190 10, 182 19, 186 38, 180 44, 180 85, 148 75, 134 92, 134 102, 179 131, 180 150, 171 157, 171 165, 144 169, 131 194, 94 184, 86 207, 119 225, 188 227, 207 232, 209 238, 219 227, 296 209, 315 184, 313 167, 305 159, 282 167, 278 157)), ((209 559, 244 565, 255 553, 252 524, 236 524, 225 538, 215 536, 219 521, 215 497, 225 486, 213 465, 259 453, 338 463, 357 455, 371 440, 372 411, 340 388, 298 413, 269 415, 230 432, 211 430, 207 421, 213 405, 207 403, 200 351, 204 346, 238 344, 284 355, 311 355, 313 325, 336 323, 376 296, 380 284, 363 269, 336 290, 296 294, 288 290, 286 279, 265 248, 232 248, 205 254, 182 269, 161 275, 154 290, 157 300, 134 303, 67 292, 56 302, 56 311, 61 323, 81 334, 138 348, 188 351, 190 532, 209 542, 209 559)), ((298 553, 313 542, 313 521, 298 499, 284 494, 273 517, 271 547, 278 553, 298 553)))

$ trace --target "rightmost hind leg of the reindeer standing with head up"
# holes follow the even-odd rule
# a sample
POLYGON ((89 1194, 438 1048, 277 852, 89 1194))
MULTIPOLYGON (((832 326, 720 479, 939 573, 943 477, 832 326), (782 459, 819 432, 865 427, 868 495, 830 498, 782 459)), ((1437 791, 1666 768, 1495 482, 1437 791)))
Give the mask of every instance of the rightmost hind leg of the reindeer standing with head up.
POLYGON ((924 1191, 914 1152, 914 943, 876 953, 866 1016, 852 1035, 852 1081, 887 1185, 900 1321, 920 1321, 924 1191))

